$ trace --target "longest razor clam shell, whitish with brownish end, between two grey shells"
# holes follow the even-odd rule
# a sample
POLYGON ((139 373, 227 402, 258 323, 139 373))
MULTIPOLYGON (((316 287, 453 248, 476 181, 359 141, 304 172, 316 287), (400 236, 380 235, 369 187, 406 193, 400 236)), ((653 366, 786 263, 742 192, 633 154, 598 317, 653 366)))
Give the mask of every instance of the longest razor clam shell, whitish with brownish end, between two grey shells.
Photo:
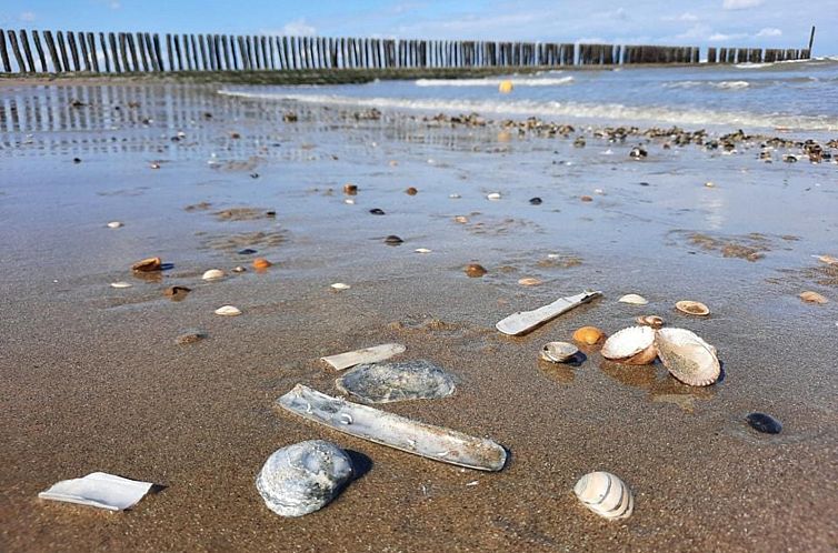
POLYGON ((506 450, 491 440, 332 398, 302 384, 297 384, 277 403, 282 409, 339 432, 442 463, 499 471, 507 461, 506 450))

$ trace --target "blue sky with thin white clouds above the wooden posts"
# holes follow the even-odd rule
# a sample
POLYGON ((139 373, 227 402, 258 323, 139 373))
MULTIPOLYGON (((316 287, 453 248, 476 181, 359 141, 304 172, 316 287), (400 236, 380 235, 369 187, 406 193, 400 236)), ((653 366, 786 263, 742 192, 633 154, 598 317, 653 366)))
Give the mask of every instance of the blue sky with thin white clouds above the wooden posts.
POLYGON ((804 48, 838 0, 2 0, 0 28, 804 48))

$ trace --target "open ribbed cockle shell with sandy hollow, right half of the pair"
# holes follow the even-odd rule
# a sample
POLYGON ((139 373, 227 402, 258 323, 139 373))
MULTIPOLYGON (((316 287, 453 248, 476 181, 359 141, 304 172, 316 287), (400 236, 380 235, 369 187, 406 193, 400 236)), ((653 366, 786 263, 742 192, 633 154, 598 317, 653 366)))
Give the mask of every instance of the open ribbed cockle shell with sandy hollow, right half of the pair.
POLYGON ((707 386, 719 380, 716 348, 686 329, 660 329, 655 338, 658 355, 669 373, 685 384, 707 386))

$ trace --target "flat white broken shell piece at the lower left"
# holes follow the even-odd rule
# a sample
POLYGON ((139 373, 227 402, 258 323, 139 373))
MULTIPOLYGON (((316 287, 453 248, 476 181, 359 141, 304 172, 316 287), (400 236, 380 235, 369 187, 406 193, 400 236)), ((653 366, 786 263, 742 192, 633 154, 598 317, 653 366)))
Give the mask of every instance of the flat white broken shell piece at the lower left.
POLYGON ((136 505, 152 485, 151 482, 123 479, 106 472, 91 472, 81 479, 62 480, 38 496, 42 500, 122 511, 136 505))

